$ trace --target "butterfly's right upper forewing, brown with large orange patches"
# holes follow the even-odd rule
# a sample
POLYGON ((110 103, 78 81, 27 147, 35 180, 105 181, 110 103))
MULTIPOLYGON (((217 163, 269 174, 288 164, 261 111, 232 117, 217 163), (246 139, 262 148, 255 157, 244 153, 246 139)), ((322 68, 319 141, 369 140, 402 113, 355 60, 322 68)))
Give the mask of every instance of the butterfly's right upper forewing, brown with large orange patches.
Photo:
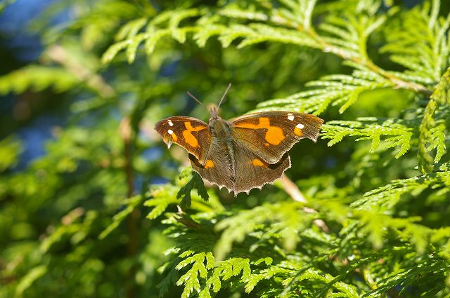
POLYGON ((304 137, 316 142, 323 120, 310 114, 268 111, 229 122, 233 140, 239 140, 267 163, 278 163, 304 137))

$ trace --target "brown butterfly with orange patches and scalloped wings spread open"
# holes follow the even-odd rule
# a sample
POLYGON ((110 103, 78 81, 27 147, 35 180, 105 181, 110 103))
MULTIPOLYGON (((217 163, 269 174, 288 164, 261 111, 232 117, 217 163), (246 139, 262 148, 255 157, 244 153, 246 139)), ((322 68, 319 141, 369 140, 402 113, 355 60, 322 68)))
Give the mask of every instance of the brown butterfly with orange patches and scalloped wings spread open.
POLYGON ((210 109, 208 123, 172 116, 156 123, 155 130, 167 147, 175 143, 188 151, 192 169, 204 180, 237 196, 281 178, 290 168, 288 151, 303 138, 316 142, 323 120, 290 111, 257 112, 224 120, 218 109, 230 87, 218 106, 210 109))

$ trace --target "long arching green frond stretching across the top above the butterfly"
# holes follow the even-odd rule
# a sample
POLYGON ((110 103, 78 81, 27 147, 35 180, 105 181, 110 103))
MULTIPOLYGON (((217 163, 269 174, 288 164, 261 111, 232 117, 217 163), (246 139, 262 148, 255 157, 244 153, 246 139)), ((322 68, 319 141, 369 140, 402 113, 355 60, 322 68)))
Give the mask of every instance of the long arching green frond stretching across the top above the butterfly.
POLYGON ((269 14, 257 10, 249 13, 231 4, 215 14, 207 8, 189 8, 166 11, 149 22, 139 18, 124 25, 120 30, 123 33, 119 34, 122 39, 118 39, 117 43, 110 46, 104 53, 102 61, 107 64, 117 53, 125 50, 128 61, 131 63, 141 43, 144 43, 146 54, 150 55, 155 50, 156 43, 167 36, 172 36, 179 43, 185 43, 188 34, 193 34, 193 39, 198 46, 202 47, 211 36, 217 35, 224 48, 229 47, 236 40, 238 40, 237 48, 263 42, 317 48, 323 52, 338 55, 354 65, 362 65, 369 72, 390 81, 390 86, 429 93, 428 89, 420 83, 411 81, 408 74, 387 72, 375 65, 368 57, 366 44, 368 36, 382 26, 387 17, 394 14, 397 8, 392 8, 384 14, 377 14, 375 8, 380 7, 380 1, 366 1, 366 4, 357 8, 358 11, 365 11, 358 18, 349 13, 346 17, 329 15, 326 22, 320 25, 321 33, 324 34, 321 35, 311 26, 315 1, 299 1, 298 3, 283 1, 283 4, 286 8, 272 7, 269 14), (371 9, 366 9, 368 6, 371 6, 371 9), (189 25, 180 24, 181 20, 188 18, 196 18, 196 20, 189 25), (148 22, 146 29, 136 34, 136 31, 144 27, 146 22, 148 22), (128 34, 129 32, 133 34, 128 34))

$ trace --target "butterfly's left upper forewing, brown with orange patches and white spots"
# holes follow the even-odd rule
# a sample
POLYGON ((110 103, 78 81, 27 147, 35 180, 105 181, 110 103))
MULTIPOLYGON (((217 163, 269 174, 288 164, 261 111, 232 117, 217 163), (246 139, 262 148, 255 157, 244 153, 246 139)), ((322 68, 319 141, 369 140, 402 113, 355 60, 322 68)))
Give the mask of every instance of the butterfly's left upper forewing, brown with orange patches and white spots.
POLYGON ((174 116, 156 123, 155 130, 167 147, 172 143, 178 144, 195 156, 201 165, 205 164, 212 138, 205 122, 192 117, 174 116))

